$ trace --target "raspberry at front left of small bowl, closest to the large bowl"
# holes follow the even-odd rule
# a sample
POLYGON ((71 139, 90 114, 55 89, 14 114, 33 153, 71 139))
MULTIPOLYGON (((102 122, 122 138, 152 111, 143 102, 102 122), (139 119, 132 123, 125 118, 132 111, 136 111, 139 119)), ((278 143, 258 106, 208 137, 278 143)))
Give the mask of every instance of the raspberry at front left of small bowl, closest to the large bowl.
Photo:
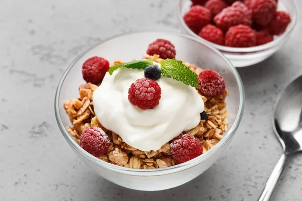
POLYGON ((212 43, 223 45, 224 44, 224 34, 221 29, 215 27, 214 25, 206 25, 199 32, 199 36, 212 43))

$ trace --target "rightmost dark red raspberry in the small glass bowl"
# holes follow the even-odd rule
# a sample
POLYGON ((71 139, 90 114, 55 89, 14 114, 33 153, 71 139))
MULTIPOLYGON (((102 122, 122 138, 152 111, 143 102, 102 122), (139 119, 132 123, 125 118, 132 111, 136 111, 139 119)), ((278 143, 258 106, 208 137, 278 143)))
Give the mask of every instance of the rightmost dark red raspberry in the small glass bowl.
POLYGON ((272 35, 283 34, 290 21, 290 16, 287 13, 283 11, 277 11, 274 15, 273 21, 269 24, 269 32, 272 35))

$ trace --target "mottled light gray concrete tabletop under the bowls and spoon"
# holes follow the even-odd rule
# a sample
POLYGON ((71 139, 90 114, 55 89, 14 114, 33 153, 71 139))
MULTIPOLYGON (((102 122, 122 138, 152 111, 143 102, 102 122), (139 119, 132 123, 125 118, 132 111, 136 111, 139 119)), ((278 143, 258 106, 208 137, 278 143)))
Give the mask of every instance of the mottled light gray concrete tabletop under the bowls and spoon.
MULTIPOLYGON (((246 111, 223 157, 187 184, 143 192, 97 176, 71 151, 55 121, 54 93, 67 65, 98 41, 138 28, 178 30, 177 1, 0 2, 0 200, 257 200, 281 154, 271 128, 274 100, 302 73, 298 34, 266 61, 238 69, 246 111)), ((289 161, 273 200, 302 200, 301 154, 289 161)))

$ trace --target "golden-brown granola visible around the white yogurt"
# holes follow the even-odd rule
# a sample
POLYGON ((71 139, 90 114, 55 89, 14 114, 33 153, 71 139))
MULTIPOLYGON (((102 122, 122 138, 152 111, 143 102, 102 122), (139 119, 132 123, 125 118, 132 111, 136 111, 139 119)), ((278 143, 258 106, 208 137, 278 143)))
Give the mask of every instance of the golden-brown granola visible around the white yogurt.
MULTIPOLYGON (((144 59, 150 59, 160 62, 162 59, 158 55, 144 55, 144 59)), ((117 60, 114 65, 122 64, 117 60)), ((184 62, 193 72, 199 74, 202 69, 193 64, 184 62)), ((72 98, 64 103, 64 109, 69 116, 72 127, 68 126, 68 133, 75 138, 79 144, 82 132, 92 126, 100 127, 108 135, 110 145, 108 151, 98 157, 99 159, 111 164, 134 168, 134 169, 155 169, 169 167, 176 164, 171 156, 170 142, 164 144, 161 149, 153 151, 141 151, 131 147, 123 141, 116 133, 104 128, 98 121, 94 113, 92 95, 97 89, 97 85, 92 83, 82 84, 79 87, 79 98, 72 98)), ((203 153, 216 145, 223 137, 223 133, 228 128, 226 117, 229 116, 226 111, 225 96, 228 91, 225 90, 221 95, 216 97, 205 97, 200 94, 204 102, 204 111, 209 114, 207 120, 201 120, 197 127, 190 131, 183 131, 182 134, 194 136, 200 140, 203 146, 203 153)))

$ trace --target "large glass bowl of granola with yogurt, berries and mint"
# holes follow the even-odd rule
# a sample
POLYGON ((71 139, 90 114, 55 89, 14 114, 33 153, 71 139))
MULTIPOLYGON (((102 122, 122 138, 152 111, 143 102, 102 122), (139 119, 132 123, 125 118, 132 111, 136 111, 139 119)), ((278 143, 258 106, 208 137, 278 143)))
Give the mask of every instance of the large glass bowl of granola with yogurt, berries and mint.
POLYGON ((128 188, 161 190, 188 182, 218 159, 241 120, 243 95, 237 71, 215 49, 178 33, 137 32, 108 39, 69 66, 56 93, 56 118, 71 148, 98 174, 128 188), (167 44, 166 55, 141 58, 158 38, 175 45, 178 61, 169 59, 175 54, 167 44), (98 83, 85 83, 82 68, 93 66, 95 56, 111 68, 98 83), (207 84, 200 72, 219 89, 200 89, 207 84))

